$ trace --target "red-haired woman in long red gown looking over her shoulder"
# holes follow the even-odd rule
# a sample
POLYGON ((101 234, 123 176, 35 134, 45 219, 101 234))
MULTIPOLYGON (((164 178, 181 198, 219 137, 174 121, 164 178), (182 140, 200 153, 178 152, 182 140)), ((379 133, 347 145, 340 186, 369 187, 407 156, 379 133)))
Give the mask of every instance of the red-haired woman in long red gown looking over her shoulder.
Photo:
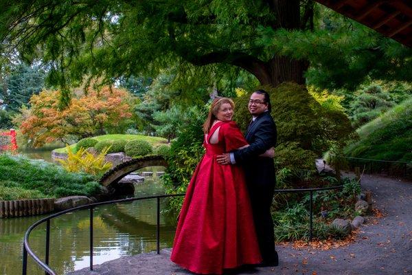
POLYGON ((248 146, 231 121, 233 102, 216 98, 203 125, 206 153, 187 187, 171 260, 197 274, 262 261, 255 236, 244 172, 220 165, 216 156, 248 146))

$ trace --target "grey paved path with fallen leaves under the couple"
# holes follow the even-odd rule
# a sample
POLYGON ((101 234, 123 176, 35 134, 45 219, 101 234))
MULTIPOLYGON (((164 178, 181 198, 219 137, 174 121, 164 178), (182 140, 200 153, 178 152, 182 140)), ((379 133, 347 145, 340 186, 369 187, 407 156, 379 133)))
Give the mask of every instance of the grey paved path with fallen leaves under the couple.
MULTIPOLYGON (((376 175, 364 175, 363 190, 371 190, 374 208, 385 217, 368 217, 356 241, 330 250, 296 249, 277 245, 278 267, 258 267, 247 272, 231 274, 412 274, 412 183, 376 175)), ((124 256, 71 272, 72 275, 91 274, 192 274, 169 260, 170 250, 124 256)))

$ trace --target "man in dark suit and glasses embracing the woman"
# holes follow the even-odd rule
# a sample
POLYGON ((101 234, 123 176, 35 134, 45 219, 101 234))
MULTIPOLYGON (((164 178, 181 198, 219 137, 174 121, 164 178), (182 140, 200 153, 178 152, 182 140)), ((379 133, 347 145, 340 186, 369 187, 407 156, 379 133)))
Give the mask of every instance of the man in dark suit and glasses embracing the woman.
POLYGON ((271 204, 275 189, 275 165, 269 157, 259 157, 268 148, 276 145, 276 125, 271 116, 271 101, 264 90, 255 91, 249 99, 249 111, 253 115, 245 138, 250 144, 247 148, 218 156, 220 164, 242 164, 251 198, 253 219, 262 266, 277 266, 275 236, 271 204))

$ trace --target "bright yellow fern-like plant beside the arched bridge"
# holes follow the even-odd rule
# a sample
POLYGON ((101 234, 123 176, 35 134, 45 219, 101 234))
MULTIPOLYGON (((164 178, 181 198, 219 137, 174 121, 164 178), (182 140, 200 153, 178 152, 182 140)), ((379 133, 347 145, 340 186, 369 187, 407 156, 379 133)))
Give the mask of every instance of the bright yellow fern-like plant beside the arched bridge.
POLYGON ((106 147, 99 153, 93 155, 87 149, 80 148, 76 153, 73 153, 69 146, 67 148, 67 159, 58 159, 63 168, 69 172, 84 172, 91 175, 103 175, 112 164, 106 162, 104 155, 110 150, 110 146, 106 147))

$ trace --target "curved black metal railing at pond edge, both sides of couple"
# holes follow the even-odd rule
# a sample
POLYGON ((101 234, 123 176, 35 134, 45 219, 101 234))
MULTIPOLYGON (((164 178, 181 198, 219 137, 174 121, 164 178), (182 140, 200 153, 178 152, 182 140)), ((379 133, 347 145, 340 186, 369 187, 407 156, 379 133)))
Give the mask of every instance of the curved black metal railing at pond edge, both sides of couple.
MULTIPOLYGON (((325 187, 325 188, 299 188, 299 189, 278 189, 275 190, 275 193, 287 193, 287 192, 309 192, 310 193, 310 203, 309 203, 309 212, 310 212, 310 224, 309 224, 309 241, 312 241, 312 231, 313 231, 313 193, 323 190, 334 190, 334 189, 341 189, 342 186, 332 186, 332 187, 325 187)), ((45 274, 49 275, 56 275, 56 272, 49 267, 49 247, 50 247, 50 220, 54 219, 55 217, 59 217, 62 214, 66 214, 67 212, 73 212, 76 210, 84 210, 89 209, 90 211, 90 225, 89 225, 89 237, 90 237, 90 270, 93 270, 93 209, 96 206, 102 206, 106 204, 112 203, 123 203, 126 201, 137 201, 143 199, 156 199, 157 200, 157 229, 156 229, 156 243, 157 243, 157 254, 160 254, 160 199, 165 197, 180 197, 184 196, 185 194, 173 194, 173 195, 159 195, 159 196, 150 196, 150 197, 132 197, 128 199, 117 199, 114 201, 102 201, 98 203, 91 203, 86 206, 78 206, 76 208, 70 208, 55 214, 52 214, 48 217, 45 217, 36 223, 32 224, 30 228, 25 232, 24 241, 23 241, 23 275, 27 274, 27 254, 34 259, 34 261, 45 271, 45 274), (34 228, 38 225, 46 222, 46 245, 45 245, 45 262, 41 261, 41 259, 34 254, 32 249, 30 248, 29 244, 29 237, 30 233, 34 228)))

